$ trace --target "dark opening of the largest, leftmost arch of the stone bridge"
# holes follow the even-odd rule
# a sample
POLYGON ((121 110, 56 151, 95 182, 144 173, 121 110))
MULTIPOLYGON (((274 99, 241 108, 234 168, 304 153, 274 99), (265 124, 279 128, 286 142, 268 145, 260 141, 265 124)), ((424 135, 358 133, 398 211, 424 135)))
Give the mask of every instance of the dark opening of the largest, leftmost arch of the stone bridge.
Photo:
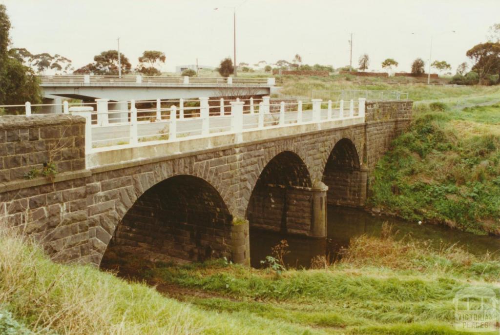
POLYGON ((232 227, 232 215, 210 183, 177 174, 149 187, 129 206, 105 254, 129 251, 156 260, 230 259, 232 227))

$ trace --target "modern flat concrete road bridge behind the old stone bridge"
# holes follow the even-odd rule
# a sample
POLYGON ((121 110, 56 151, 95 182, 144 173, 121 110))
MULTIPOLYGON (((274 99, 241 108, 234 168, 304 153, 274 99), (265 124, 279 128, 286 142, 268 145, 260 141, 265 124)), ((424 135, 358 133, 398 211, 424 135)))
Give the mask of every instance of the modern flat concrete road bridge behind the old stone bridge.
MULTIPOLYGON (((167 77, 141 75, 41 75, 45 104, 60 104, 61 98, 125 102, 130 99, 189 99, 199 96, 264 96, 274 86, 274 78, 167 77)), ((60 112, 52 107, 46 112, 60 112)))

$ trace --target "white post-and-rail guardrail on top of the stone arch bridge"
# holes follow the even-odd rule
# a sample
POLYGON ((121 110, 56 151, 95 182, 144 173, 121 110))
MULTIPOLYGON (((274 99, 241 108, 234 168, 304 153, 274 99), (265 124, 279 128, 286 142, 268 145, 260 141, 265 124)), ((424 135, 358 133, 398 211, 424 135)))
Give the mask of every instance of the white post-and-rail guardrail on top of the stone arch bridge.
POLYGON ((191 100, 148 100, 95 103, 33 104, 23 106, 26 116, 32 107, 55 106, 63 114, 85 117, 85 152, 99 148, 123 148, 145 141, 180 141, 213 135, 235 134, 236 142, 248 130, 262 130, 290 125, 321 123, 332 120, 362 118, 365 99, 272 103, 262 99, 221 98, 218 103, 207 97, 191 100), (95 110, 94 110, 95 107, 95 110))

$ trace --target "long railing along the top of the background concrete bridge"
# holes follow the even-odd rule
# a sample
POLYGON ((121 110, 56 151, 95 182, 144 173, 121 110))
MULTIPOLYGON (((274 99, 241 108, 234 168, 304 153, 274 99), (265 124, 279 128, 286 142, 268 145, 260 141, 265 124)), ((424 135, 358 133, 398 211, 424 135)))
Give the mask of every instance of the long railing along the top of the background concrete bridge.
POLYGON ((259 85, 274 86, 274 78, 221 78, 221 77, 167 77, 142 75, 40 75, 42 86, 71 86, 71 85, 259 85))

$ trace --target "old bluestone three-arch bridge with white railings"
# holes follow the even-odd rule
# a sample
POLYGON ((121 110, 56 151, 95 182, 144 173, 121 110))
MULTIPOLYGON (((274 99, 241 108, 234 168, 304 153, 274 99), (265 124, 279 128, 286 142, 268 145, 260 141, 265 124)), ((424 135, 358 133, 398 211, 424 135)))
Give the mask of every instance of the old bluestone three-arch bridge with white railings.
POLYGON ((326 204, 363 206, 412 107, 207 101, 1 116, 1 226, 61 262, 98 266, 111 246, 248 264, 250 228, 324 238, 326 204))

